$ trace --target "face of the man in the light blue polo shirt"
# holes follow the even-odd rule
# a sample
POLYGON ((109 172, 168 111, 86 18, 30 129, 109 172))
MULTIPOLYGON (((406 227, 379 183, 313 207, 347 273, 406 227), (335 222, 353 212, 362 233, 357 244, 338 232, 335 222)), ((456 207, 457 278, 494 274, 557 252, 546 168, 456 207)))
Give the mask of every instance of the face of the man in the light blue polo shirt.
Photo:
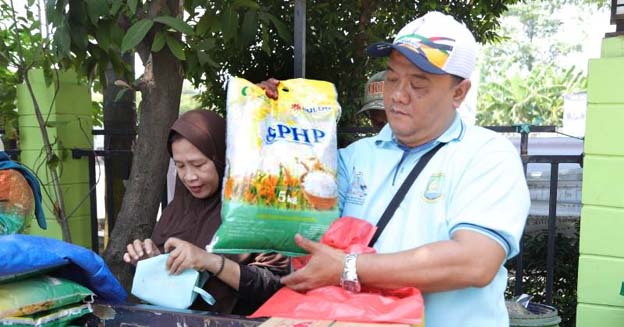
POLYGON ((440 136, 452 123, 470 81, 426 73, 397 51, 388 61, 384 106, 396 138, 414 147, 440 136))

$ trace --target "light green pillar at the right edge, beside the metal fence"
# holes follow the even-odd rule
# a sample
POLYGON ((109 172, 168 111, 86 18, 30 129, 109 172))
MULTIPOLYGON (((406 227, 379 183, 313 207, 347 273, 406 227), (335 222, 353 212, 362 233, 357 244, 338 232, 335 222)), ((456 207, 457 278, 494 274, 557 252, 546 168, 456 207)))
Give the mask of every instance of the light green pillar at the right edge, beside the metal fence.
POLYGON ((578 275, 578 327, 624 326, 624 36, 590 60, 578 275))

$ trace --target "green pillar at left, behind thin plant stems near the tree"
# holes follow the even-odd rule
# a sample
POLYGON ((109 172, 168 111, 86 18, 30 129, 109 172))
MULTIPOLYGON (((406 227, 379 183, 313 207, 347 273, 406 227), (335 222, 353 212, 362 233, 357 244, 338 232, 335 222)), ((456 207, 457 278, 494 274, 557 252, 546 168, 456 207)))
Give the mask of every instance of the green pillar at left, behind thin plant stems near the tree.
MULTIPOLYGON (((43 72, 31 71, 30 81, 44 119, 48 117, 48 134, 54 151, 61 159, 59 179, 64 196, 66 214, 72 242, 91 247, 91 222, 89 203, 89 163, 87 158, 73 159, 72 148, 92 149, 91 92, 88 86, 78 83, 73 72, 59 72, 59 90, 55 98, 55 84, 46 85, 43 72)), ((17 88, 19 113, 20 160, 30 167, 54 194, 45 169, 43 140, 30 93, 25 84, 17 88)), ((50 199, 44 194, 47 230, 33 221, 30 234, 62 239, 60 225, 52 212, 50 199)))

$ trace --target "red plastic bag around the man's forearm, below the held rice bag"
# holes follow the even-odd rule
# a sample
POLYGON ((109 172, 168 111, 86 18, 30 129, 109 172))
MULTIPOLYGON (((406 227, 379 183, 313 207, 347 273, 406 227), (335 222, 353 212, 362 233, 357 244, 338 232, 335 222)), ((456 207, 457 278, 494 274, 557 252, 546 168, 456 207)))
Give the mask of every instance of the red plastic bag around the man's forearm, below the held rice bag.
MULTIPOLYGON (((376 229, 364 220, 342 217, 334 221, 320 242, 347 253, 374 253, 375 250, 368 247, 368 242, 376 229)), ((295 269, 300 269, 307 262, 308 257, 293 259, 295 269)), ((361 293, 352 293, 338 286, 325 286, 305 294, 283 287, 250 317, 419 325, 423 322, 423 316, 422 294, 413 287, 396 290, 365 289, 361 293)))

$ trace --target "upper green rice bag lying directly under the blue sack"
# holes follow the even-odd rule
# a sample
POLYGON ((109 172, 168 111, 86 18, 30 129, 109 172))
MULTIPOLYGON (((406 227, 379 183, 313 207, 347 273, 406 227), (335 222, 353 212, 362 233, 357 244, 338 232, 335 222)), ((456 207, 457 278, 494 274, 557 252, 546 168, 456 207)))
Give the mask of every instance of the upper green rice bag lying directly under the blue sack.
POLYGON ((86 287, 46 275, 0 284, 0 318, 47 311, 87 297, 93 297, 93 292, 86 287))

